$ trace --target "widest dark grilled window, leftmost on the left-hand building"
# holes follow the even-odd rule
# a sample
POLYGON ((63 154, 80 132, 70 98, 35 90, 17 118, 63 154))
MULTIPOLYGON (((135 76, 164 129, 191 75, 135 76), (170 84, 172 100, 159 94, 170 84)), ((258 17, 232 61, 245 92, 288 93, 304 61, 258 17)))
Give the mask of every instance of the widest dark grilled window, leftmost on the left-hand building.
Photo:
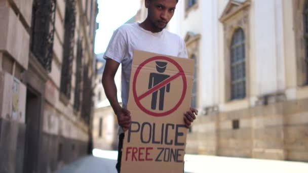
POLYGON ((55 32, 56 1, 34 0, 31 19, 30 51, 51 71, 55 32))

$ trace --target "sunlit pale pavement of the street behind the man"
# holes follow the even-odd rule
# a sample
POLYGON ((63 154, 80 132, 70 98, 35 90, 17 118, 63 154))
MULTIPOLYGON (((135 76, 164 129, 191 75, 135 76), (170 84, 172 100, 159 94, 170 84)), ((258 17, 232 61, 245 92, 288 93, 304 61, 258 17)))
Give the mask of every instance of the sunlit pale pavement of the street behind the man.
MULTIPOLYGON (((117 173, 117 151, 93 150, 87 156, 63 167, 57 173, 117 173)), ((263 160, 186 154, 185 173, 308 173, 307 162, 263 160)))

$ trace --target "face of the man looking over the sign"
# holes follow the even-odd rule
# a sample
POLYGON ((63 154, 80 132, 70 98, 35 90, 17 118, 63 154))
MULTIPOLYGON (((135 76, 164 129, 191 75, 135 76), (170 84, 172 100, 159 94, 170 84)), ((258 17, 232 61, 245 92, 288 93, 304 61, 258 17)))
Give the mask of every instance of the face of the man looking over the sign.
POLYGON ((176 4, 176 0, 146 0, 145 7, 152 26, 164 29, 174 14, 176 4))

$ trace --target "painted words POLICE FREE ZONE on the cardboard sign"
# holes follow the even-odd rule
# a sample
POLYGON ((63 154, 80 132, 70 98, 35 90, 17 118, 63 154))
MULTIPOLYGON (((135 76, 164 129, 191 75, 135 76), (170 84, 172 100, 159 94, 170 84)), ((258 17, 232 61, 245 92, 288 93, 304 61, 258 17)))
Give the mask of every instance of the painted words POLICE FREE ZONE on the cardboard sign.
MULTIPOLYGON (((187 130, 184 124, 163 123, 160 129, 156 129, 156 123, 132 121, 131 127, 128 131, 127 142, 132 140, 132 133, 140 134, 139 138, 133 140, 140 140, 143 144, 161 144, 169 146, 184 146, 184 143, 179 142, 179 138, 184 137, 183 131, 187 130), (160 133, 160 137, 156 138, 156 133, 160 133), (168 134, 175 134, 174 138, 170 139, 168 134)), ((138 136, 138 135, 137 135, 138 136)), ((173 136, 173 135, 172 135, 173 136)), ((157 162, 183 162, 180 156, 184 155, 184 149, 158 147, 158 155, 150 156, 150 151, 153 147, 127 147, 126 161, 157 161, 157 162)))

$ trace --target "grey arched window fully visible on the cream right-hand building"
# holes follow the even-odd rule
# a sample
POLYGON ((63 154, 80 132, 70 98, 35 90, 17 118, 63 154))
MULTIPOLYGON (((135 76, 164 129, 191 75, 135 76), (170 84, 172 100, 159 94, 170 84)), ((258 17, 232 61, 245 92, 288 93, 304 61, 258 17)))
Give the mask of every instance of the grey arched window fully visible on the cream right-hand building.
POLYGON ((246 97, 246 68, 245 35, 242 28, 234 32, 230 54, 231 100, 243 99, 246 97))

